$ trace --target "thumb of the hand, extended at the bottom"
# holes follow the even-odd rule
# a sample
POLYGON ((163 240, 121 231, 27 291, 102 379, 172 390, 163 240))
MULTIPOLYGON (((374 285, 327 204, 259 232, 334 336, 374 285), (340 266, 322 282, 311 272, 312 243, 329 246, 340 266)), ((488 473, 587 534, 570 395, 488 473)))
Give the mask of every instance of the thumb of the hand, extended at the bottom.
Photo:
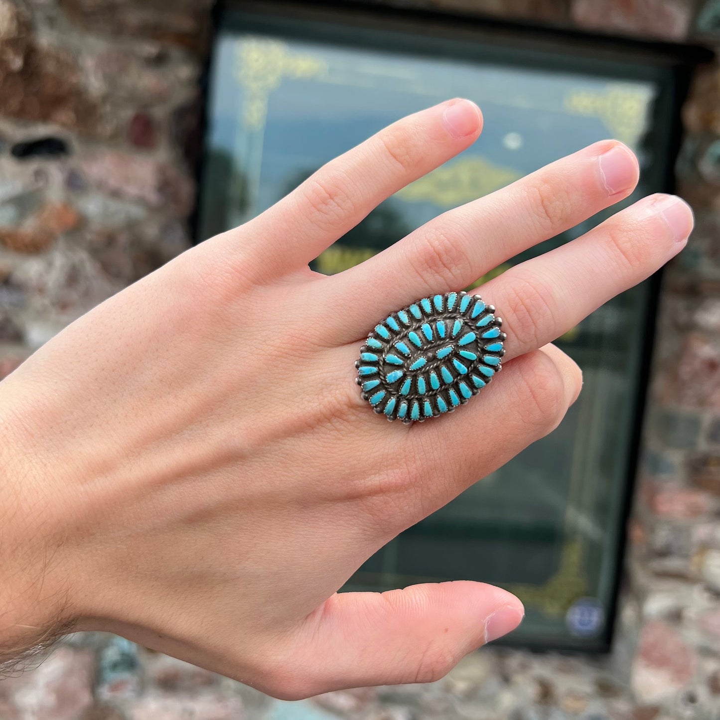
POLYGON ((307 695, 428 683, 467 653, 516 629, 523 614, 514 595, 466 580, 336 594, 306 619, 296 660, 312 668, 307 695))

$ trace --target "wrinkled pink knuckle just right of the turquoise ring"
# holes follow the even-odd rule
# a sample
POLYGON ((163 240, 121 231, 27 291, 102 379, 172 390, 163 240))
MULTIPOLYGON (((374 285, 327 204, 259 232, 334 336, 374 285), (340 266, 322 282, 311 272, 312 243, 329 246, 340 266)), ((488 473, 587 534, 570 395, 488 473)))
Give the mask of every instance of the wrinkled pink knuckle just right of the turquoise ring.
POLYGON ((503 300, 503 323, 509 329, 508 335, 516 338, 519 352, 534 350, 551 339, 545 337, 543 328, 555 327, 552 291, 536 276, 516 274, 512 282, 509 280, 508 295, 503 300))

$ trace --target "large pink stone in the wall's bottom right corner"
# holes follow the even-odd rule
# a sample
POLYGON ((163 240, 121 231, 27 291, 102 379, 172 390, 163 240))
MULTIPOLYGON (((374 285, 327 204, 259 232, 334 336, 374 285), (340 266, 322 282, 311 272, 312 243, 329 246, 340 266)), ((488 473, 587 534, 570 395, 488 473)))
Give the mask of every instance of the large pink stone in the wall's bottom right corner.
POLYGON ((670 698, 693 678, 697 657, 675 627, 652 620, 640 631, 631 685, 641 703, 670 698))

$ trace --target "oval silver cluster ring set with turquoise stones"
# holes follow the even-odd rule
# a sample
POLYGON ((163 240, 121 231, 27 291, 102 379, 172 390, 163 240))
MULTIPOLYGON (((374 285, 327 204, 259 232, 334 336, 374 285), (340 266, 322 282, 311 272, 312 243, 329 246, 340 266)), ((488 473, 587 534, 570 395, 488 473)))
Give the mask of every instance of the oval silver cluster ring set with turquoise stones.
POLYGON ((423 297, 376 325, 355 363, 362 397, 403 423, 451 413, 501 369, 503 321, 480 295, 423 297))

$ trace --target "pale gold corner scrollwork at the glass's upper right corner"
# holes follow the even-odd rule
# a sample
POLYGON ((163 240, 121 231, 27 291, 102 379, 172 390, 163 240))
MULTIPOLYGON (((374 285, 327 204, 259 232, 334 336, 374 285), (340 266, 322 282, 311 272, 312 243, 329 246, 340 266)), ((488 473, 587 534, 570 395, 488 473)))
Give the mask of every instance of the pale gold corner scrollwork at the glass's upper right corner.
POLYGON ((648 89, 608 84, 603 91, 572 90, 563 109, 575 115, 598 117, 624 143, 635 144, 647 125, 648 89))

